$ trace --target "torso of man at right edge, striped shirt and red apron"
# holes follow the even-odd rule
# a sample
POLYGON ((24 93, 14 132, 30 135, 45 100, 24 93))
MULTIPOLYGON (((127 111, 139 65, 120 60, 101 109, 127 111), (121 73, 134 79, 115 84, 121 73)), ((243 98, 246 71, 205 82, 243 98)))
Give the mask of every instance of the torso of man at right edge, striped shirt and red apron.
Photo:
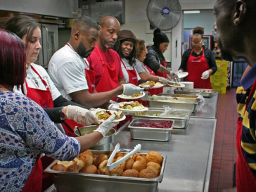
MULTIPOLYGON (((256 65, 242 79, 241 84, 246 90, 244 94, 237 91, 238 113, 241 115, 237 120, 236 148, 238 158, 236 161, 236 186, 237 191, 256 191, 255 165, 255 122, 256 122, 256 65), (252 78, 253 77, 253 78, 252 78), (254 80, 253 80, 254 79, 254 80), (252 83, 253 82, 253 83, 252 83), (250 131, 249 131, 250 130, 250 131), (252 148, 250 148, 252 146, 252 148), (250 166, 252 166, 252 168, 250 166)), ((238 87, 238 90, 240 87, 238 87)))

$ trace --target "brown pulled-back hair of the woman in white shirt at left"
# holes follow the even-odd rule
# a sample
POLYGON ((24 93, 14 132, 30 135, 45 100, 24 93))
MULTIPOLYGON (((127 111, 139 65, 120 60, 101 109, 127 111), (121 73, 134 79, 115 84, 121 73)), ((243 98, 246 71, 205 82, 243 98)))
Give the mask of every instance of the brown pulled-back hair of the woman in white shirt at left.
POLYGON ((39 26, 40 25, 37 20, 30 18, 27 15, 17 15, 8 19, 6 23, 6 30, 14 32, 18 37, 20 37, 20 39, 27 34, 25 39, 25 47, 27 48, 27 44, 30 41, 34 30, 39 26))

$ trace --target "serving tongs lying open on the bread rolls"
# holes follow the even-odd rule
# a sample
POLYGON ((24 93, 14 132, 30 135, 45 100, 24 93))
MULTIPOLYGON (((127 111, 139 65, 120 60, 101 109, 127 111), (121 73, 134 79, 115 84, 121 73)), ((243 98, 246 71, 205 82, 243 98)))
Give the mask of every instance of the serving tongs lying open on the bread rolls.
POLYGON ((120 158, 120 160, 117 160, 116 162, 113 162, 113 164, 111 164, 113 158, 115 157, 115 154, 119 151, 120 148, 120 144, 117 143, 117 145, 115 146, 115 149, 113 151, 113 153, 110 155, 110 158, 108 159, 108 163, 107 163, 107 169, 108 171, 111 171, 112 169, 114 169, 115 167, 117 167, 118 165, 120 165, 122 162, 124 162, 125 160, 129 159, 132 155, 134 155, 136 152, 141 151, 141 144, 137 144, 134 147, 134 150, 131 151, 130 153, 128 153, 127 155, 124 155, 124 157, 120 158))

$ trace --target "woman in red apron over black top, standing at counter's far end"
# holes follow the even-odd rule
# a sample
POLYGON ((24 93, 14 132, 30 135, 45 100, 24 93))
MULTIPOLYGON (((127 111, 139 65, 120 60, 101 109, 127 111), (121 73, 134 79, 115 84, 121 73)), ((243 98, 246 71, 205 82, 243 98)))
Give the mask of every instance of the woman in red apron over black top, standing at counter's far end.
POLYGON ((195 89, 212 89, 210 75, 215 74, 217 65, 210 49, 203 46, 203 27, 193 29, 192 49, 183 53, 179 72, 188 72, 187 82, 193 82, 195 89))

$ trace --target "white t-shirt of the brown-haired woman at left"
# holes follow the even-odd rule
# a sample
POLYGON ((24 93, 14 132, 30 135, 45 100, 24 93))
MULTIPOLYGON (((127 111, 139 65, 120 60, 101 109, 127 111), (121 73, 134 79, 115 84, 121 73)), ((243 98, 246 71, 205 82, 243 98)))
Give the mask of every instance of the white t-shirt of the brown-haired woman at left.
MULTIPOLYGON (((61 95, 60 91, 58 91, 58 89, 55 87, 55 85, 51 81, 51 78, 49 77, 48 73, 42 66, 31 63, 30 68, 27 69, 27 76, 26 76, 27 86, 30 88, 41 89, 41 90, 46 91, 46 87, 45 87, 44 83, 41 81, 41 79, 37 75, 37 73, 34 72, 34 70, 32 70, 31 66, 33 66, 34 70, 37 71, 37 73, 41 76, 42 79, 44 79, 44 81, 48 85, 48 87, 51 91, 51 97, 53 98, 53 101, 54 101, 56 98, 58 98, 61 95)), ((26 88, 25 83, 23 84, 23 89, 25 92, 24 94, 27 95, 27 88, 26 88)), ((13 91, 18 94, 23 94, 20 87, 15 86, 13 91)))

